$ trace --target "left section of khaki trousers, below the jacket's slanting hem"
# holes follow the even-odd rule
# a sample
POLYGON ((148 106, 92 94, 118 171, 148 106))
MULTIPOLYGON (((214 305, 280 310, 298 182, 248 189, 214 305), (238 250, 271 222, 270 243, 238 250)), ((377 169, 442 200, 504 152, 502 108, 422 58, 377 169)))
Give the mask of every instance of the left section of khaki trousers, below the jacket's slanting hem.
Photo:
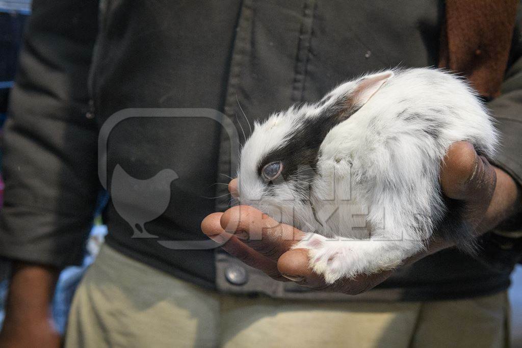
POLYGON ((215 346, 219 299, 104 245, 74 296, 67 347, 215 346))

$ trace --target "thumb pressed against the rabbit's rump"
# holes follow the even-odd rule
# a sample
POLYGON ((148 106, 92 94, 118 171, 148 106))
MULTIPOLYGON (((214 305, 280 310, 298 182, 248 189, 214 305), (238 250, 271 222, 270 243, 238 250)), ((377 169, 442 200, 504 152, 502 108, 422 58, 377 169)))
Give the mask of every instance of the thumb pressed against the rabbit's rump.
POLYGON ((458 141, 448 149, 441 170, 443 193, 453 199, 489 203, 496 183, 493 166, 471 143, 458 141))

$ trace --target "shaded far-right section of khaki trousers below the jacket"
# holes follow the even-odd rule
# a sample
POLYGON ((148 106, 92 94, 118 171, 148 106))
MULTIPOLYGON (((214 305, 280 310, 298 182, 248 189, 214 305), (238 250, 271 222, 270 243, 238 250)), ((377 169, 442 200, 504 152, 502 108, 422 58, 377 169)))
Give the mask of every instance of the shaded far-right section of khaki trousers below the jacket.
POLYGON ((411 346, 509 346, 507 293, 423 303, 411 346))

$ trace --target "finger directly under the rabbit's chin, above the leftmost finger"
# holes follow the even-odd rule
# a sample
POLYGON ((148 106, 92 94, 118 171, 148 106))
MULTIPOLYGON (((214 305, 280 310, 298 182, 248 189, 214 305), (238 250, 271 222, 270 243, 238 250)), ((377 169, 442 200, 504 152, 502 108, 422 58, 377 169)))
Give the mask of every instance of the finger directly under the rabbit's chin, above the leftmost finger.
POLYGON ((304 236, 295 227, 279 223, 249 206, 236 206, 224 212, 221 227, 274 261, 304 236))

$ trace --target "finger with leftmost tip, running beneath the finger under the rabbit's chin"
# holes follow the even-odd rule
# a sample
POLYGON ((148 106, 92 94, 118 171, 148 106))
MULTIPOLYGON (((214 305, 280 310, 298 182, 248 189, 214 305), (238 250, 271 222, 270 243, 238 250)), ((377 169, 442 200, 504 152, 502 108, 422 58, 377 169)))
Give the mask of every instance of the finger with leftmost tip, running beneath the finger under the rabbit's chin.
POLYGON ((201 222, 201 230, 213 241, 223 244, 221 247, 230 255, 238 258, 246 265, 257 268, 270 277, 281 280, 281 275, 277 270, 277 264, 273 260, 257 253, 257 251, 242 243, 233 234, 225 232, 221 228, 220 218, 223 213, 213 213, 208 215, 201 222))

